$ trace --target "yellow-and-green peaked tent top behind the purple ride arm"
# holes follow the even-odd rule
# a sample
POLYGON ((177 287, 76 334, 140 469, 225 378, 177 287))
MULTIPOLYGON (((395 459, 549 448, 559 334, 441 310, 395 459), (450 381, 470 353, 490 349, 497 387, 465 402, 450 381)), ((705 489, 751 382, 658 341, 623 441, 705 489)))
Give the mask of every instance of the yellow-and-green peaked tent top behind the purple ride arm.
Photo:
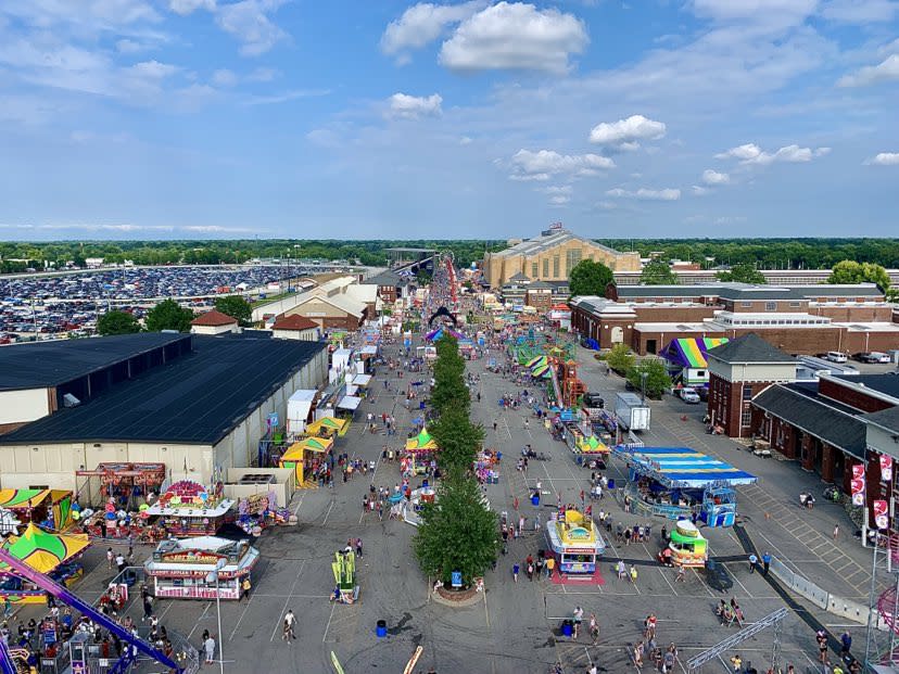
MULTIPOLYGON (((61 534, 28 524, 21 536, 3 542, 4 551, 62 585, 81 577, 81 554, 90 545, 85 534, 61 534)), ((0 563, 0 598, 10 603, 46 603, 47 593, 0 563)))

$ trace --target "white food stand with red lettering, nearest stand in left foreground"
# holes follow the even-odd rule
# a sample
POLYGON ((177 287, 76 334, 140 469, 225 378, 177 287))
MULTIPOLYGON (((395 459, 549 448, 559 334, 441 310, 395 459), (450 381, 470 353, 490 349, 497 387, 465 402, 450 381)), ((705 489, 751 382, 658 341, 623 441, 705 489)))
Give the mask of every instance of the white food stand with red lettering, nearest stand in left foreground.
POLYGON ((240 599, 240 584, 259 559, 249 541, 200 536, 163 541, 143 570, 153 594, 167 599, 240 599), (208 576, 218 570, 218 583, 208 576))

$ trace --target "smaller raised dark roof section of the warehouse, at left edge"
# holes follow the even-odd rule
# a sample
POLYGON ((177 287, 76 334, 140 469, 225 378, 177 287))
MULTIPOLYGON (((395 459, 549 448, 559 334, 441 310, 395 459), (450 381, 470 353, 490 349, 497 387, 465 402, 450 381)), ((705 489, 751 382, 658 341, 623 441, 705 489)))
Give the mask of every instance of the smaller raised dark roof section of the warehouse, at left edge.
POLYGON ((189 334, 141 332, 0 346, 0 391, 58 386, 189 334))

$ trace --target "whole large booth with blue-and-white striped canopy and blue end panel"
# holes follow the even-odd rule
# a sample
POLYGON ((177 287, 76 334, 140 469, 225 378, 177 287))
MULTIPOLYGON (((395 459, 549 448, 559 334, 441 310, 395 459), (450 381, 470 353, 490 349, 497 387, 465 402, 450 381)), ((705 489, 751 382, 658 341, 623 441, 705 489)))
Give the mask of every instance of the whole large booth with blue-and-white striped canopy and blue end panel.
POLYGON ((689 447, 619 445, 613 453, 628 463, 629 492, 637 514, 679 520, 696 512, 709 526, 732 526, 736 487, 758 482, 755 475, 689 447))

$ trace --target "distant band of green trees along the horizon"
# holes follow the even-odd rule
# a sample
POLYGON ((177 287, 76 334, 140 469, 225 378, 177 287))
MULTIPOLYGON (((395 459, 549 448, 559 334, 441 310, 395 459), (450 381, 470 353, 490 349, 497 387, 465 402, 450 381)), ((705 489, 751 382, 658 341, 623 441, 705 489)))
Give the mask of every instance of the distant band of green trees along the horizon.
MULTIPOLYGON (((638 251, 644 257, 658 253, 664 259, 693 260, 704 267, 749 263, 764 269, 828 269, 841 259, 870 262, 899 268, 899 239, 598 239, 618 251, 638 251)), ((84 266, 88 257, 106 263, 136 265, 243 263, 253 257, 358 260, 383 265, 384 249, 423 247, 452 251, 459 265, 483 259, 486 251, 506 247, 502 240, 388 241, 239 239, 211 241, 58 241, 0 243, 0 272, 43 269, 45 260, 56 267, 84 266)))

